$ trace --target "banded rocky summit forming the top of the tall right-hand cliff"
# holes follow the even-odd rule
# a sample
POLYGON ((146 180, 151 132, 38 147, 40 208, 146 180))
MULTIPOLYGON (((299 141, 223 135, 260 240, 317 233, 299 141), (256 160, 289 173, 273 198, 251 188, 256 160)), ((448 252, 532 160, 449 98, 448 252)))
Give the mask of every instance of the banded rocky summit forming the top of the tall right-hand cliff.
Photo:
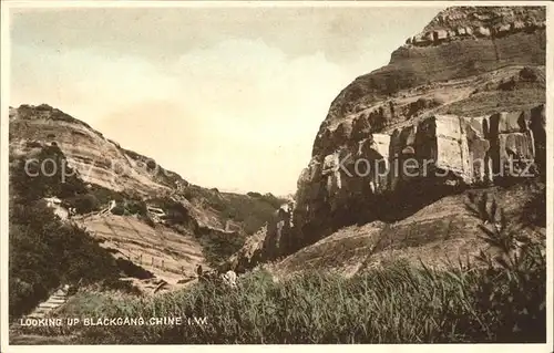
MULTIPOLYGON (((387 108, 387 101, 418 86, 466 79, 506 65, 544 65, 545 20, 544 7, 447 9, 416 39, 397 49, 388 65, 357 77, 342 90, 326 120, 334 124, 360 110, 387 108)), ((386 120, 401 116, 381 115, 386 120)))

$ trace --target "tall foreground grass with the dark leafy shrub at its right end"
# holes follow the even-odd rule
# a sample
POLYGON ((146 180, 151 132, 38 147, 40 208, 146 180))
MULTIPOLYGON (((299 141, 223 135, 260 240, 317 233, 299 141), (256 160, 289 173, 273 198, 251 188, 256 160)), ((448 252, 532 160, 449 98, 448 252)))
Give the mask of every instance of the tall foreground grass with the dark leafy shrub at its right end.
POLYGON ((41 330, 104 344, 545 342, 544 239, 521 236, 485 195, 472 199, 495 257, 448 271, 398 262, 350 279, 312 272, 280 283, 257 270, 235 290, 206 283, 147 299, 81 292, 58 314, 185 323, 41 330))

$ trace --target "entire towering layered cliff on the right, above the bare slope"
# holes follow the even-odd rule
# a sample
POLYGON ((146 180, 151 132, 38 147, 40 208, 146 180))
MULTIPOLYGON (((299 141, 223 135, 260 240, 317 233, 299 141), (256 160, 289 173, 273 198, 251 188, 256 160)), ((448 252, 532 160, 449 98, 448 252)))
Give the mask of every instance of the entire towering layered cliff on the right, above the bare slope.
POLYGON ((543 173, 544 64, 544 8, 439 13, 331 103, 290 230, 269 227, 261 258, 356 222, 404 219, 464 187, 543 173))

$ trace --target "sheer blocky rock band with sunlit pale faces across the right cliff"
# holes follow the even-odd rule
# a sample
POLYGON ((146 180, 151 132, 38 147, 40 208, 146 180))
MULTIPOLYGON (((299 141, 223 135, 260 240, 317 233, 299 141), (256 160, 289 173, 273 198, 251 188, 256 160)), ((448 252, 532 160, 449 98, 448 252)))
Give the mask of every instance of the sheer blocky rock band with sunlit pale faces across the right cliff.
MULTIPOLYGON (((368 133, 357 148, 346 144, 314 157, 298 181, 297 231, 289 231, 291 239, 284 243, 296 242, 288 248, 295 251, 324 229, 379 219, 386 204, 394 212, 394 205, 403 206, 402 196, 412 197, 406 190, 413 187, 453 193, 461 186, 536 176, 537 166, 544 170, 535 163, 536 150, 545 146, 542 137, 534 137, 535 132, 545 136, 540 112, 543 105, 485 117, 432 115, 390 135, 368 133), (537 127, 534 132, 530 126, 537 127)), ((544 154, 536 160, 541 158, 544 154)))

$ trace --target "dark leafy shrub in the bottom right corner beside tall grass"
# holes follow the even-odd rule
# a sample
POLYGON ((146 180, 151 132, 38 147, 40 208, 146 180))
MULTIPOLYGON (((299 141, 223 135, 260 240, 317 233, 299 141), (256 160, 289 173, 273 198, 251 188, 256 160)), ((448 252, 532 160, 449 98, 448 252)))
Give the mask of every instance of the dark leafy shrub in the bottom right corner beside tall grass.
MULTIPOLYGON (((473 289, 481 321, 486 322, 486 339, 502 342, 541 342, 546 338, 546 257, 544 239, 534 239, 525 229, 507 221, 504 212, 486 193, 470 209, 484 224, 482 237, 499 255, 481 251, 485 266, 473 289)), ((527 225, 523 225, 527 226, 527 225)), ((483 332, 480 332, 483 334, 483 332)), ((474 333, 478 335, 478 333, 474 333)))

